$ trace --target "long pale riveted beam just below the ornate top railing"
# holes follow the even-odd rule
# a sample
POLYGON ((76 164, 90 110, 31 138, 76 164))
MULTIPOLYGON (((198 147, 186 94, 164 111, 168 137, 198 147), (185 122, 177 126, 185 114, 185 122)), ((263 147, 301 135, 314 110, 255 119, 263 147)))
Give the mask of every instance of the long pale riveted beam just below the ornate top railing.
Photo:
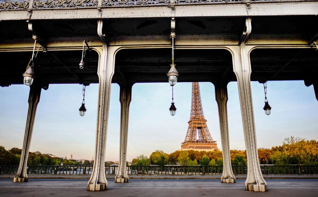
MULTIPOLYGON (((246 4, 176 4, 175 17, 253 17, 253 16, 290 16, 316 15, 318 1, 290 2, 250 2, 246 4), (217 5, 217 6, 216 6, 217 5), (195 9, 194 9, 195 6, 195 9), (291 9, 292 8, 292 9, 291 9)), ((41 8, 32 10, 30 19, 103 19, 103 18, 166 18, 171 17, 171 8, 167 5, 122 6, 99 8, 41 8), (93 8, 93 9, 92 9, 93 8), (110 9, 111 8, 111 9, 110 9)), ((24 20, 27 10, 1 10, 0 20, 24 20)))

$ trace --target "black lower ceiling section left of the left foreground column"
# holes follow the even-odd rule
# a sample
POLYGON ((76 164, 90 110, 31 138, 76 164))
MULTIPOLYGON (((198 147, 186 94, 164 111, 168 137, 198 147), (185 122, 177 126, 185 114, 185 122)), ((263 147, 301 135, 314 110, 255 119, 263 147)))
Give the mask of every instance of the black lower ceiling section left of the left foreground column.
MULTIPOLYGON (((0 85, 21 84, 32 52, 1 52, 0 67, 4 76, 0 85)), ((79 69, 82 51, 39 52, 34 59, 36 80, 47 83, 91 83, 98 82, 98 54, 94 51, 85 55, 85 68, 79 69)))

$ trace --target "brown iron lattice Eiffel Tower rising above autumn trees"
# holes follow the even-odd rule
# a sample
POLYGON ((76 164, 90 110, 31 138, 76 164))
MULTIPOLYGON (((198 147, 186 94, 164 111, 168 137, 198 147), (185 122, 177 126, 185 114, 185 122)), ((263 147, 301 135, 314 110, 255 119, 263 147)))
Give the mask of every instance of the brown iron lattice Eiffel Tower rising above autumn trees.
POLYGON ((213 151, 218 150, 204 118, 199 82, 192 82, 191 115, 189 127, 180 150, 213 151), (199 139, 197 139, 197 136, 199 139))

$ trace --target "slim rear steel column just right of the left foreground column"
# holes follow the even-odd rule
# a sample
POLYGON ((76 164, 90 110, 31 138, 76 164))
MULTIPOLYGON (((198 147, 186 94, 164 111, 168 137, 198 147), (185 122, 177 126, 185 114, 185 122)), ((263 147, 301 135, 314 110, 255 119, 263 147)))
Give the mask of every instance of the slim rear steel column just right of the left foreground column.
POLYGON ((115 183, 128 182, 128 175, 126 169, 127 158, 127 137, 128 137, 128 119, 129 119, 129 104, 131 101, 132 84, 124 81, 120 84, 120 98, 121 103, 121 120, 120 120, 120 148, 119 148, 119 166, 118 173, 115 177, 115 183))

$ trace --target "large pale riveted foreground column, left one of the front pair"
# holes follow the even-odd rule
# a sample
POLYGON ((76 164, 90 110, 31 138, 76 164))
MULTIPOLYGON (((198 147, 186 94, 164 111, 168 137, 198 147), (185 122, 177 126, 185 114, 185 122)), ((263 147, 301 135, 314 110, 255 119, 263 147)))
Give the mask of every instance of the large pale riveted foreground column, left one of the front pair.
MULTIPOLYGON (((98 35, 102 35, 102 21, 98 21, 98 35)), ((114 74, 114 55, 116 48, 108 47, 103 40, 103 47, 99 52, 98 62, 98 110, 97 110, 97 125, 96 125, 96 141, 94 165, 91 178, 87 184, 88 191, 107 190, 107 180, 105 176, 105 148, 107 137, 107 124, 110 100, 111 81, 114 74)))

